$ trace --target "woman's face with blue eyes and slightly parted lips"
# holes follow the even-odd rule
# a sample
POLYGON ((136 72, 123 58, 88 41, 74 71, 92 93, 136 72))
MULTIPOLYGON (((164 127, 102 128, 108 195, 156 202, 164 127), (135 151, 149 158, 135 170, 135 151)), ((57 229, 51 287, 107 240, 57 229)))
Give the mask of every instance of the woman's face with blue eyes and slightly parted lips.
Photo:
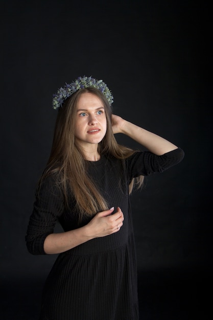
POLYGON ((77 103, 75 137, 85 151, 98 147, 106 134, 107 121, 102 100, 84 93, 77 103))

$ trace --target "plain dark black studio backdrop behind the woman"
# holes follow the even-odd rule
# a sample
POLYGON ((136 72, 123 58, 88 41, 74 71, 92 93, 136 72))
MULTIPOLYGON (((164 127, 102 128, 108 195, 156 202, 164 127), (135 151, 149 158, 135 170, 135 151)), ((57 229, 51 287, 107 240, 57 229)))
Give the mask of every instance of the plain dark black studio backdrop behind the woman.
POLYGON ((38 319, 56 256, 30 255, 25 234, 52 144, 52 94, 87 75, 112 90, 114 113, 185 151, 132 195, 141 319, 207 319, 210 9, 187 0, 1 3, 1 318, 38 319))

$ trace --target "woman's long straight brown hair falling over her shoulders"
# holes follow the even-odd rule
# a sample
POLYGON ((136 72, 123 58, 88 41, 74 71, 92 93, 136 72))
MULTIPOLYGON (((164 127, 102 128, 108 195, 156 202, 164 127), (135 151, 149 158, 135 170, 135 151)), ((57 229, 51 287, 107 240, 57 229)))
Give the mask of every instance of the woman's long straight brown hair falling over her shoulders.
MULTIPOLYGON (((77 104, 84 93, 92 93, 98 96, 103 104, 107 120, 107 131, 103 140, 99 143, 98 151, 101 155, 109 154, 118 159, 125 159, 135 151, 119 145, 112 131, 111 115, 112 109, 106 97, 96 88, 79 89, 68 98, 64 105, 59 108, 55 124, 52 149, 48 164, 42 174, 41 181, 50 174, 56 174, 59 184, 68 206, 69 193, 72 192, 76 200, 76 209, 83 215, 94 215, 99 211, 107 210, 107 203, 87 175, 86 161, 83 151, 75 139, 75 123, 77 115, 77 104)), ((131 181, 129 192, 132 192, 134 182, 138 187, 143 184, 143 176, 131 181)))

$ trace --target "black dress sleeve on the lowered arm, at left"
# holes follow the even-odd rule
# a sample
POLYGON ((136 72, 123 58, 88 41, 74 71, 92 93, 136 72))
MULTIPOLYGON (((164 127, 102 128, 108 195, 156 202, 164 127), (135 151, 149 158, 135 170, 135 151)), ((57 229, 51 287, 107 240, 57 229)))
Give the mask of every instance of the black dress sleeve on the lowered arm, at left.
POLYGON ((28 251, 33 255, 44 255, 44 240, 54 232, 58 218, 64 210, 61 192, 52 177, 42 182, 33 205, 27 234, 25 237, 28 251))

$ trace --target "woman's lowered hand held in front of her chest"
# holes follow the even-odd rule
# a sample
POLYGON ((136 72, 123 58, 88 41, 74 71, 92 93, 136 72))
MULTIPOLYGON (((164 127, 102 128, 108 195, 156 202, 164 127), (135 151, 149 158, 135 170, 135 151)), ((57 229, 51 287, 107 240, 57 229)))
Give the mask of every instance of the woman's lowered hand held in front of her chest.
POLYGON ((112 215, 114 208, 97 213, 94 218, 85 226, 87 227, 87 236, 91 238, 100 238, 120 231, 123 225, 124 215, 121 208, 112 215))

